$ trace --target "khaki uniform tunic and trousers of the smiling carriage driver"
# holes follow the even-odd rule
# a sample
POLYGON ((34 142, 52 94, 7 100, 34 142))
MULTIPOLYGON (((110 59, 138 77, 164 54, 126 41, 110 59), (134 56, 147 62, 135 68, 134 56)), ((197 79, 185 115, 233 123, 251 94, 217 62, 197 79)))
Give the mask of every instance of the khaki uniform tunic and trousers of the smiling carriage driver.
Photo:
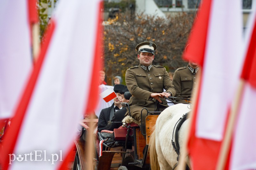
MULTIPOLYGON (((170 76, 162 66, 152 65, 149 71, 145 71, 140 65, 131 67, 126 71, 125 82, 132 94, 129 101, 131 116, 139 122, 141 122, 140 112, 142 108, 146 107, 149 111, 156 110, 156 100, 150 97, 151 93, 162 93, 166 89, 166 92, 171 92, 172 96, 176 94, 170 76)), ((167 104, 161 104, 159 111, 166 107, 168 107, 167 104)), ((144 111, 143 115, 145 116, 146 110, 144 111)), ((128 115, 128 112, 126 112, 126 115, 128 115)))

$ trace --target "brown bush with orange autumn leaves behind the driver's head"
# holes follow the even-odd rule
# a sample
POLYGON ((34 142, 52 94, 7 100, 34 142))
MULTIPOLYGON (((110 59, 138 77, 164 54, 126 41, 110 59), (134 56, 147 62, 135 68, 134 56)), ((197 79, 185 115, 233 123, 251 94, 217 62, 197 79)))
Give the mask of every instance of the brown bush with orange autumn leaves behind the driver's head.
POLYGON ((126 69, 139 64, 135 46, 143 41, 152 41, 157 45, 154 65, 164 66, 167 71, 185 66, 181 55, 193 21, 194 15, 189 13, 177 13, 164 19, 125 12, 109 19, 104 24, 107 81, 111 82, 115 75, 124 77, 126 69))

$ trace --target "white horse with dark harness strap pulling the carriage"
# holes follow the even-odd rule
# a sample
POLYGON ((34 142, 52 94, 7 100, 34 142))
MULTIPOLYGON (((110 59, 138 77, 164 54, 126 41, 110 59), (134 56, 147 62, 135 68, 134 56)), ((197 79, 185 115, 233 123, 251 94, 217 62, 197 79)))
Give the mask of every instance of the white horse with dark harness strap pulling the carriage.
MULTIPOLYGON (((185 113, 189 112, 188 104, 176 104, 166 108, 156 120, 156 129, 150 136, 149 155, 152 170, 170 170, 178 163, 177 153, 172 146, 172 133, 175 124, 185 113)), ((181 125, 178 131, 180 151, 182 149, 185 131, 189 119, 181 125)), ((187 160, 189 165, 189 162, 187 160)))

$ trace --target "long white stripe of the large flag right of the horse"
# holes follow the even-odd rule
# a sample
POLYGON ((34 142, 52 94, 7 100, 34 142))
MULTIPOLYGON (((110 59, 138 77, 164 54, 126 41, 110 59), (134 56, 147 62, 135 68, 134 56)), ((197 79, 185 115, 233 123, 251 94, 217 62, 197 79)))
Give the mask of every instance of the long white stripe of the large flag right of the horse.
POLYGON ((212 1, 196 120, 198 138, 223 138, 243 63, 241 9, 240 1, 212 1))

